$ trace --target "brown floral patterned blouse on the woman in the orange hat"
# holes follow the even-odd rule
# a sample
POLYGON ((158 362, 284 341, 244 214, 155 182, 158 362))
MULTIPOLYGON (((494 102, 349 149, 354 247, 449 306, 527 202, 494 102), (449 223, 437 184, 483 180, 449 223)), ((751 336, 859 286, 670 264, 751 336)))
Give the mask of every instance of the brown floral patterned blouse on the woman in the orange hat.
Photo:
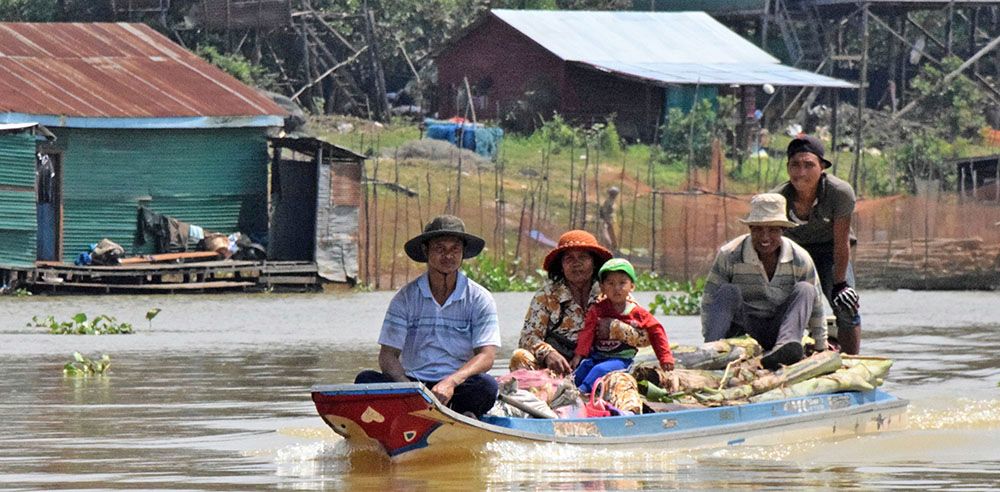
MULTIPOLYGON (((583 330, 583 319, 586 317, 587 308, 596 303, 600 295, 600 285, 594 282, 587 306, 580 306, 573 299, 565 279, 546 281, 542 289, 531 299, 528 314, 524 317, 524 326, 521 328, 518 347, 531 352, 535 359, 541 361, 545 360, 550 352, 557 350, 546 341, 546 338, 549 338, 549 341, 553 338, 562 339, 572 342, 573 345, 564 347, 564 351, 568 350, 568 355, 563 354, 563 356, 567 359, 572 357, 576 339, 583 330)), ((645 330, 636 329, 618 320, 611 324, 610 338, 622 340, 633 347, 649 345, 645 330)))

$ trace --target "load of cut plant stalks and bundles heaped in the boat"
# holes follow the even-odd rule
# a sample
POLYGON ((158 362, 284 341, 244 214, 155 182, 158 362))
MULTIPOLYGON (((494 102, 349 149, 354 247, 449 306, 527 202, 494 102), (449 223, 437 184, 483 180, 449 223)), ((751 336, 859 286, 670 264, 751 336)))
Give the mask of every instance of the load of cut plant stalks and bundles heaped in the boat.
MULTIPOLYGON (((730 338, 697 347, 672 347, 676 366, 660 368, 652 350, 640 351, 626 372, 605 376, 594 395, 628 413, 741 405, 797 396, 867 391, 880 386, 891 359, 818 352, 769 371, 761 367, 763 350, 750 337, 730 338)), ((500 395, 493 413, 536 418, 580 417, 585 401, 572 376, 547 369, 518 369, 498 378, 500 395)))

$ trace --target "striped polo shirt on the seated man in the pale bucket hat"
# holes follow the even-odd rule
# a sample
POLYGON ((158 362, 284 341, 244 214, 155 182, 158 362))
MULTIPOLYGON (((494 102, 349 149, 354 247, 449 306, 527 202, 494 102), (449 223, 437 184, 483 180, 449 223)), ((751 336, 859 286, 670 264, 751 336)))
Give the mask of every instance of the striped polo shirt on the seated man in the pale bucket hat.
POLYGON ((712 294, 722 284, 733 284, 743 294, 743 303, 748 315, 755 318, 771 318, 778 307, 785 302, 797 282, 809 282, 816 286, 816 302, 809 317, 809 332, 813 338, 822 335, 826 339, 826 325, 823 318, 823 291, 820 290, 819 276, 812 258, 794 241, 781 238, 781 252, 774 276, 767 279, 764 264, 753 249, 750 234, 744 234, 719 248, 712 270, 705 283, 702 303, 711 302, 712 294))

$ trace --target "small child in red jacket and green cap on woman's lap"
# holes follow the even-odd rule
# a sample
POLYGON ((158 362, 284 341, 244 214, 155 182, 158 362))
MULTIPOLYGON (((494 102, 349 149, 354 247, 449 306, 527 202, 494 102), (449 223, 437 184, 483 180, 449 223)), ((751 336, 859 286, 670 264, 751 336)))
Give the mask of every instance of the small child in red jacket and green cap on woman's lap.
POLYGON ((597 276, 604 298, 587 310, 583 330, 576 342, 576 355, 570 361, 570 365, 576 369, 573 373, 574 381, 580 391, 589 393, 594 382, 601 376, 628 368, 636 354, 636 336, 621 337, 624 340, 612 340, 610 336, 594 340, 601 318, 613 318, 636 331, 645 331, 660 367, 665 371, 672 371, 674 356, 670 352, 670 342, 667 341, 663 325, 629 297, 635 290, 635 269, 632 264, 622 258, 612 258, 604 263, 597 276))

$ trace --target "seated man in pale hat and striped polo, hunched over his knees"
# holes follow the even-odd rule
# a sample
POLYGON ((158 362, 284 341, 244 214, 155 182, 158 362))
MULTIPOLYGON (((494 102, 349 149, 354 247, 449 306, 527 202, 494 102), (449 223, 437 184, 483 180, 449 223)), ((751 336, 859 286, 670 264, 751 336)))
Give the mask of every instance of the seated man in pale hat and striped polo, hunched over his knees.
POLYGON ((784 237, 795 223, 785 197, 762 193, 750 201, 750 227, 719 249, 701 302, 706 342, 750 335, 765 350, 761 363, 777 369, 802 360, 808 327, 815 350, 826 349, 822 293, 812 258, 784 237))

